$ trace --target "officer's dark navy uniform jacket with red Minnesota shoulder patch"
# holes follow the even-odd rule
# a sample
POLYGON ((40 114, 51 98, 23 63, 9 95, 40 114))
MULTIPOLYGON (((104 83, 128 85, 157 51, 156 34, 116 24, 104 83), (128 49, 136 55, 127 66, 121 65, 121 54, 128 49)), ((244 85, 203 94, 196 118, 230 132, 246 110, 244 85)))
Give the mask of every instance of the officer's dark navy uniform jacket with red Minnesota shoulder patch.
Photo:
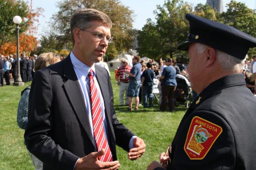
POLYGON ((229 75, 206 87, 185 113, 168 170, 256 170, 255 153, 256 97, 242 74, 229 75))

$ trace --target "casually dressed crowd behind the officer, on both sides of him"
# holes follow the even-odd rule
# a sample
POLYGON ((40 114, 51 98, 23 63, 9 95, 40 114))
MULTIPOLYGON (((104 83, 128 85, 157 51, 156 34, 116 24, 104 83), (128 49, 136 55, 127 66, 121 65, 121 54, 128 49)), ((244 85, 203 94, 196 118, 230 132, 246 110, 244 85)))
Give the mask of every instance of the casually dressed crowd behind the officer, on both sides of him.
MULTIPOLYGON (((143 60, 140 61, 138 59, 140 58, 139 56, 132 57, 134 58, 133 64, 135 67, 137 68, 136 64, 140 63, 140 68, 135 69, 135 67, 129 66, 130 63, 127 59, 122 59, 121 66, 115 70, 116 83, 119 85, 120 106, 126 105, 128 106, 128 110, 133 110, 131 97, 134 97, 135 110, 138 110, 138 106, 141 104, 144 108, 153 107, 153 86, 155 85, 154 79, 157 79, 159 80, 156 82, 159 83, 157 87, 160 92, 160 111, 165 111, 166 106, 168 106, 169 111, 174 112, 175 105, 177 105, 175 94, 180 93, 175 91, 177 86, 176 77, 184 79, 190 87, 189 74, 186 66, 184 64, 177 64, 176 60, 171 58, 166 58, 166 60, 162 60, 161 58, 159 63, 150 59, 146 63, 143 60), (123 101, 124 96, 125 102, 123 101), (128 100, 129 97, 130 100, 128 100)), ((256 95, 256 69, 253 71, 253 66, 256 67, 255 61, 256 56, 253 56, 253 59, 245 60, 243 74, 247 87, 256 95)), ((195 100, 196 97, 197 94, 195 91, 191 91, 191 100, 195 100)))

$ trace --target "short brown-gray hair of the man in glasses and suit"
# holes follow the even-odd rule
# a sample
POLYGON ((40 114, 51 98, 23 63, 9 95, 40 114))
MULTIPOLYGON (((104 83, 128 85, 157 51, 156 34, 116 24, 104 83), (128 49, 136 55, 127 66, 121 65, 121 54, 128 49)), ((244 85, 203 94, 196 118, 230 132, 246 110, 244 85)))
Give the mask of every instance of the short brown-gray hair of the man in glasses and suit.
POLYGON ((74 44, 74 29, 86 29, 91 26, 91 21, 101 21, 103 24, 112 27, 112 21, 106 13, 96 9, 79 9, 70 19, 71 40, 74 44))

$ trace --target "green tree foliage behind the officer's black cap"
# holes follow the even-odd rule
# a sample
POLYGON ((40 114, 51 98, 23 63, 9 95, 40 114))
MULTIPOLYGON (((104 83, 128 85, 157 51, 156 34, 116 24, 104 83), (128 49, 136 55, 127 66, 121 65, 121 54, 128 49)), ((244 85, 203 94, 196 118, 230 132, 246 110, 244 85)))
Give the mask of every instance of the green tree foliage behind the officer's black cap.
MULTIPOLYGON (((184 62, 187 54, 177 50, 176 46, 188 35, 189 22, 184 17, 186 13, 225 23, 256 37, 256 13, 244 3, 231 0, 227 12, 220 14, 208 4, 197 4, 193 10, 192 6, 182 0, 166 0, 163 6, 156 6, 156 22, 148 19, 139 31, 140 55, 153 59, 175 57, 179 62, 184 62)), ((249 56, 253 54, 256 54, 256 50, 249 50, 249 56)))

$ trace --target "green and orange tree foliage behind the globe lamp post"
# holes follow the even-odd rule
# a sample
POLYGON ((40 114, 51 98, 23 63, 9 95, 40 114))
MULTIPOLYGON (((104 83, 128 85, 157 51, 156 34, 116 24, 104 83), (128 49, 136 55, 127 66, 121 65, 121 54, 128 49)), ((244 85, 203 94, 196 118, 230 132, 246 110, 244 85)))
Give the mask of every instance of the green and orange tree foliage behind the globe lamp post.
POLYGON ((19 15, 22 18, 20 24, 20 51, 32 51, 36 49, 38 41, 33 36, 36 33, 35 22, 43 9, 30 9, 22 0, 0 0, 0 52, 4 55, 16 52, 16 25, 13 17, 19 15))

